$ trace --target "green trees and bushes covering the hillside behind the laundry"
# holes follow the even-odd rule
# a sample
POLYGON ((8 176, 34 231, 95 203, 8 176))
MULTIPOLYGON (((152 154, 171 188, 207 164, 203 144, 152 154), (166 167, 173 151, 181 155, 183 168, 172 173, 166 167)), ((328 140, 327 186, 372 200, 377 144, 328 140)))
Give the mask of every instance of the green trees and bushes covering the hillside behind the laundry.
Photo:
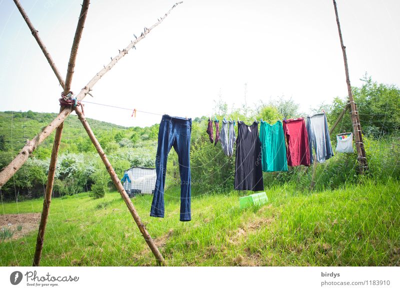
MULTIPOLYGON (((396 85, 373 81, 365 76, 360 87, 353 87, 359 118, 362 125, 369 171, 365 177, 373 180, 400 177, 400 89, 396 85)), ((320 104, 312 112, 324 110, 329 127, 346 104, 346 97, 336 97, 330 104, 320 104)), ((312 113, 311 112, 311 113, 312 113)), ((32 138, 47 125, 55 113, 32 111, 0 112, 0 167, 9 163, 26 139, 32 138)), ((269 102, 260 100, 252 106, 230 108, 222 99, 215 101, 214 114, 252 123, 254 118, 273 123, 278 119, 305 116, 290 98, 269 102)), ((192 192, 213 193, 233 188, 234 156, 223 154, 221 146, 210 144, 205 133, 208 116, 196 117, 192 122, 190 163, 192 192)), ((158 124, 147 127, 123 127, 89 119, 91 127, 106 152, 116 173, 122 177, 130 166, 154 166, 157 147, 158 124)), ((332 132, 334 135, 352 131, 348 113, 332 132)), ((237 130, 237 127, 236 127, 237 130)), ((2 188, 3 200, 21 200, 43 195, 54 134, 50 135, 2 188)), ((336 188, 345 183, 359 181, 356 171, 356 153, 335 154, 320 164, 316 172, 316 189, 336 188)), ((287 172, 263 174, 266 188, 288 186, 296 190, 308 187, 311 173, 308 167, 289 167, 287 172)), ((171 150, 167 165, 167 186, 179 183, 177 155, 171 150)), ((90 191, 93 197, 114 190, 113 184, 76 116, 64 122, 64 132, 54 181, 54 196, 72 195, 90 191)))

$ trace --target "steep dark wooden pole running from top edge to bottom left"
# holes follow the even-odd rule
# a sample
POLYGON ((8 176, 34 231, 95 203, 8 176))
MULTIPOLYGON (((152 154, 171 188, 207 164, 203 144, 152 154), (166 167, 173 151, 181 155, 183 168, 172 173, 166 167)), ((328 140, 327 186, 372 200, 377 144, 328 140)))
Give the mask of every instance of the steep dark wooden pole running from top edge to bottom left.
MULTIPOLYGON (((80 38, 82 36, 83 24, 84 24, 84 21, 86 20, 87 9, 89 7, 89 3, 90 3, 89 0, 83 0, 82 8, 80 10, 79 20, 78 20, 78 24, 76 26, 75 36, 73 38, 72 47, 71 47, 70 56, 69 56, 68 70, 66 72, 66 78, 65 78, 66 81, 65 82, 62 81, 65 84, 64 91, 63 91, 64 95, 66 95, 70 90, 70 85, 71 85, 72 75, 73 75, 73 68, 75 66, 77 49, 79 46, 80 38)), ((26 16, 26 18, 27 18, 27 16, 26 16)), ((55 67, 55 64, 54 64, 54 67, 55 67)), ((60 107, 60 112, 61 111, 62 111, 62 107, 60 107)), ((43 208, 41 211, 39 229, 37 231, 37 237, 36 237, 36 247, 35 247, 35 252, 33 255, 33 263, 32 263, 33 266, 38 266, 40 264, 41 251, 43 249, 44 233, 45 233, 46 224, 47 224, 47 217, 48 217, 48 213, 50 211, 50 202, 51 202, 51 194, 53 191, 55 167, 57 164, 57 156, 58 156, 59 144, 61 142, 61 135, 62 135, 63 127, 64 127, 64 123, 62 122, 55 130, 53 148, 52 148, 51 157, 50 157, 50 165, 48 167, 47 184, 46 184, 46 190, 44 193, 43 208)))

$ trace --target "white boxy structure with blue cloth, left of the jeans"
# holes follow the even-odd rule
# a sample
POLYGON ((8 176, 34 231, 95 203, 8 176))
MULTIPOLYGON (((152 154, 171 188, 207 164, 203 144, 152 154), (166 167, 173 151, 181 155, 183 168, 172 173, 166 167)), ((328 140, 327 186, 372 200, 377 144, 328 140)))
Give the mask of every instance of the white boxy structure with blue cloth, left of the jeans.
POLYGON ((129 197, 136 194, 153 194, 155 187, 155 168, 132 166, 125 170, 121 182, 129 197))

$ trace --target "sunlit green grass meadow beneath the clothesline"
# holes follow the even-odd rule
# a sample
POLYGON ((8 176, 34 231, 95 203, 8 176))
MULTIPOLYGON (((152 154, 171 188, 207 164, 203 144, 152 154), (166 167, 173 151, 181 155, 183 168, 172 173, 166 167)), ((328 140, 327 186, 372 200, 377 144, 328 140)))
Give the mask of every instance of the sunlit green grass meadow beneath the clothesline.
MULTIPOLYGON (((267 191, 269 203, 239 209, 238 194, 194 193, 179 221, 179 190, 165 193, 165 218, 151 195, 132 198, 168 265, 399 265, 400 182, 364 182, 323 192, 267 191)), ((193 191, 194 192, 194 191, 193 191)), ((42 199, 3 203, 1 213, 40 212, 42 199)), ((36 231, 0 242, 0 265, 31 265, 36 231)), ((155 265, 116 192, 51 202, 41 265, 155 265)))

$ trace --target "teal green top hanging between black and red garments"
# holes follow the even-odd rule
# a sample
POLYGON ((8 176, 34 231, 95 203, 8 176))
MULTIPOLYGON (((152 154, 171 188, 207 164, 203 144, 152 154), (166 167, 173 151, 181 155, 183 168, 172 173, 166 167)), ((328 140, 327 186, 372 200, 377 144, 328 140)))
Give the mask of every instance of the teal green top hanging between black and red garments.
POLYGON ((286 144, 284 140, 282 122, 269 124, 261 121, 259 127, 261 141, 262 170, 287 171, 286 144))

